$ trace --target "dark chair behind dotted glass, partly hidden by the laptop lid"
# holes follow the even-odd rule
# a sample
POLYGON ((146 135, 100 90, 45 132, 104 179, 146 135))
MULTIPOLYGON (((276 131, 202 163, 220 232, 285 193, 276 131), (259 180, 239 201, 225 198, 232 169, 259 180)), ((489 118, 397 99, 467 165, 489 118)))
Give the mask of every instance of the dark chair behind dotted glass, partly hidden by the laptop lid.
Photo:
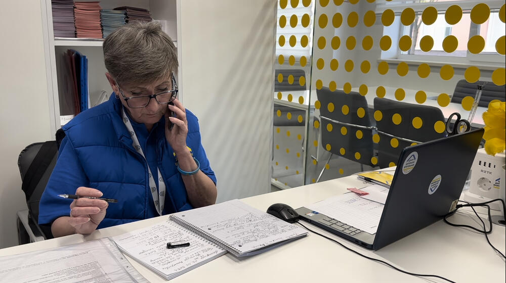
MULTIPOLYGON (((381 111, 383 116, 381 120, 376 121, 376 131, 379 135, 378 165, 380 168, 391 167, 391 163, 396 164, 405 147, 413 143, 420 144, 441 138, 446 134, 445 131, 438 133, 434 129, 434 124, 437 121, 445 121, 441 109, 437 107, 374 98, 374 110, 381 111), (393 120, 396 120, 393 117, 394 114, 400 115, 399 124, 394 124, 393 120), (421 119, 421 127, 420 119, 415 119, 416 123, 413 122, 415 117, 421 119), (413 124, 419 128, 415 128, 413 124), (393 138, 397 139, 398 144, 392 140, 393 138)), ((396 117, 399 116, 396 115, 396 117)))

